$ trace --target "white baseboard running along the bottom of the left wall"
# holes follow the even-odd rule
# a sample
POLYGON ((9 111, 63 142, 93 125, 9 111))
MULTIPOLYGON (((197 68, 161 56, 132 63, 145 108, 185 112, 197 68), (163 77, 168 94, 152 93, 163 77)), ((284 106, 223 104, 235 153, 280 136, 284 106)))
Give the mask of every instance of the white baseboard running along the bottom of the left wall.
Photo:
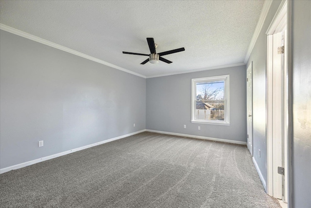
POLYGON ((141 130, 141 131, 138 131, 138 132, 128 133, 128 134, 125 134, 125 135, 122 135, 122 136, 118 136, 118 137, 115 137, 115 138, 107 139, 107 140, 104 140, 104 141, 101 141, 101 142, 96 142, 94 144, 90 144, 90 145, 86 145, 86 146, 83 146, 83 147, 75 148, 75 149, 72 149, 72 150, 69 150, 69 151, 59 152, 59 153, 56 153, 56 154, 52 154, 52 155, 49 155, 49 156, 46 156, 46 157, 42 157, 42 158, 39 158, 39 159, 35 159, 35 160, 28 161, 28 162, 20 163, 20 164, 17 164, 17 165, 14 165, 14 166, 10 166, 10 167, 7 167, 7 168, 2 168, 2 169, 0 169, 0 174, 2 174, 4 172, 7 172, 7 171, 10 171, 10 170, 16 170, 16 169, 24 168, 26 166, 30 166, 30 165, 33 165, 33 164, 36 164, 36 163, 39 163, 39 162, 50 160, 50 159, 53 159, 55 157, 60 157, 60 156, 63 156, 63 155, 66 155, 66 154, 69 154, 69 153, 72 153, 72 152, 75 152, 75 151, 84 150, 84 149, 87 149, 87 148, 90 148, 90 147, 94 147, 94 146, 101 145, 101 144, 104 144, 104 143, 107 143, 107 142, 118 140, 118 139, 121 139, 121 138, 124 138, 124 137, 127 137, 127 136, 132 136, 134 134, 145 132, 145 131, 146 130, 144 129, 144 130, 141 130))

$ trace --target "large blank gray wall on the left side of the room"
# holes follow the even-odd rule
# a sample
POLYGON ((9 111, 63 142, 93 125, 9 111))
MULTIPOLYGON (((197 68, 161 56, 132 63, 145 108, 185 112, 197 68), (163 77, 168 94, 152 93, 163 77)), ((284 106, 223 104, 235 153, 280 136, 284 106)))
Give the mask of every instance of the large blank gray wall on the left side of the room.
POLYGON ((145 129, 146 79, 2 30, 0 38, 1 169, 145 129))

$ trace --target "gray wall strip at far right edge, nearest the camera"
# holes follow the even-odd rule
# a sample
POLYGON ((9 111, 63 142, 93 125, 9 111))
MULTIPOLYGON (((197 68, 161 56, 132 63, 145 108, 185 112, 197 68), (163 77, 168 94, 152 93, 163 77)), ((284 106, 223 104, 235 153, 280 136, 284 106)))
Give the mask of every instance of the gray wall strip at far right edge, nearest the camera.
POLYGON ((311 1, 292 1, 293 207, 311 207, 311 1))

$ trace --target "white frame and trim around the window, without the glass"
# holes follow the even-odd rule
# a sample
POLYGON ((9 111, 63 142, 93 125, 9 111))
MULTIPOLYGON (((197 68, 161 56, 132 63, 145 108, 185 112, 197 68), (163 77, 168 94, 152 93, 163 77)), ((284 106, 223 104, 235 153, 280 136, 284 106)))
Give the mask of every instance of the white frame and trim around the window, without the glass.
POLYGON ((229 75, 223 76, 209 76, 203 78, 193 78, 191 79, 191 123, 200 123, 200 124, 214 124, 214 125, 230 125, 229 119, 229 75), (204 120, 204 119, 195 119, 195 108, 196 108, 196 84, 202 82, 215 82, 215 81, 225 81, 224 86, 224 105, 225 105, 225 118, 223 121, 220 120, 204 120))

